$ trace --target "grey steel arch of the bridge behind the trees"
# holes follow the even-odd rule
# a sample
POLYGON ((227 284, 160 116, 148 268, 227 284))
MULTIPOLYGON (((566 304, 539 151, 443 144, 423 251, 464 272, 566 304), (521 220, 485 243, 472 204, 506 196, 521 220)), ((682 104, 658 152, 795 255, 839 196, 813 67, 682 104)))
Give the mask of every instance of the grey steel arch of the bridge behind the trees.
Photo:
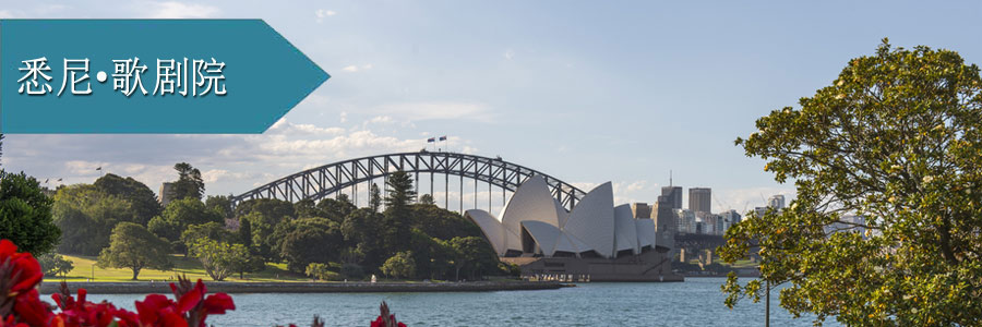
MULTIPOLYGON (((476 183, 489 183, 510 192, 515 192, 525 180, 538 174, 546 179, 552 195, 566 209, 572 209, 586 195, 585 192, 570 183, 540 171, 504 161, 501 158, 458 153, 419 152, 362 157, 311 168, 232 196, 231 202, 235 206, 254 198, 278 198, 288 202, 307 198, 318 201, 346 187, 385 178, 398 170, 416 173, 416 179, 419 178, 419 173, 442 173, 447 175, 447 179, 448 175, 457 175, 462 179, 475 180, 476 183)), ((414 182, 419 187, 418 181, 414 180, 414 182)), ((460 187, 463 190, 463 184, 460 187)))

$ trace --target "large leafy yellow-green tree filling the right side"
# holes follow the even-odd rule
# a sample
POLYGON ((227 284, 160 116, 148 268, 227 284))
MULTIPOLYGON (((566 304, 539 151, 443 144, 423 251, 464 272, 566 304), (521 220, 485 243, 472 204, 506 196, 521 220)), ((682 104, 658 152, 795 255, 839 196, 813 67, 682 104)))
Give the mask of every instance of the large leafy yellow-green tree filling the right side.
POLYGON ((982 324, 979 68, 955 51, 885 39, 799 104, 736 140, 798 195, 727 231, 722 258, 758 251, 762 277, 741 286, 731 274, 726 304, 787 283, 780 305, 818 322, 982 324))

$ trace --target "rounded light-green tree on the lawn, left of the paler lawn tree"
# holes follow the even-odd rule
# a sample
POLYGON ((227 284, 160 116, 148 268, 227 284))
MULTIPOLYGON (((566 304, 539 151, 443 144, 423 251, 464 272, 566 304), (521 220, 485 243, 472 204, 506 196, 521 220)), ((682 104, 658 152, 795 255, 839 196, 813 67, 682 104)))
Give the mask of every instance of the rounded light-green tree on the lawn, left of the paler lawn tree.
POLYGON ((112 229, 109 247, 99 253, 98 266, 133 270, 133 280, 144 268, 166 270, 172 267, 167 254, 169 243, 133 222, 120 222, 112 229))

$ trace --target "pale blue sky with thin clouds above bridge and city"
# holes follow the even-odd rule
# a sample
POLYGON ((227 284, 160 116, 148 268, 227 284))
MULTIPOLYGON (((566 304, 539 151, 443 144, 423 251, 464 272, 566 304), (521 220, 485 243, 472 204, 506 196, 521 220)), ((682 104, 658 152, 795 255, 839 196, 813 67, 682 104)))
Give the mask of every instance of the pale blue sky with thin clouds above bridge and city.
POLYGON ((447 135, 582 189, 610 181, 616 203, 654 203, 672 171, 712 187, 714 211, 744 210, 794 186, 733 141, 882 38, 982 62, 978 1, 0 2, 0 19, 61 17, 263 19, 332 77, 263 134, 5 135, 2 167, 50 187, 101 167, 158 191, 185 161, 206 194, 240 194, 447 135))

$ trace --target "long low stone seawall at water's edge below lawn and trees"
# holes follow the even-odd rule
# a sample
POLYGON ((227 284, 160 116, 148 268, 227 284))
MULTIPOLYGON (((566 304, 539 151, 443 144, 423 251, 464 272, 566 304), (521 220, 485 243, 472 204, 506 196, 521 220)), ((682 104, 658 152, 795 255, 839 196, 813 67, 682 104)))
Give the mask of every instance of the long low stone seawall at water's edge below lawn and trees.
MULTIPOLYGON (((60 282, 41 283, 41 294, 57 292, 60 282)), ((573 284, 551 281, 470 281, 470 282, 230 282, 205 281, 209 293, 367 293, 367 292, 492 292, 554 290, 573 284)), ((68 282, 72 292, 85 289, 89 294, 169 294, 168 282, 68 282)))

